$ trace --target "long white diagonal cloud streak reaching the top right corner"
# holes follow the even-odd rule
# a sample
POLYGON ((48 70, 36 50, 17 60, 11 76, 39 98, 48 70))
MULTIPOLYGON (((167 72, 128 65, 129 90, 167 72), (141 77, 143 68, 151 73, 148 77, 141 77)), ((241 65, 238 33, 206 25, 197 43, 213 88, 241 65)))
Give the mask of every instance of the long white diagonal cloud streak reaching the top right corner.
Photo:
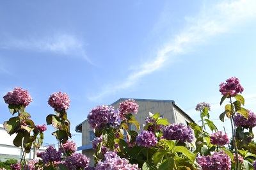
MULTIPOLYGON (((166 15, 163 16, 168 17, 166 15)), ((105 86, 99 95, 89 99, 99 100, 122 89, 130 88, 141 77, 156 72, 163 68, 166 63, 170 63, 173 60, 173 56, 189 52, 195 45, 207 42, 210 38, 227 33, 227 31, 235 29, 235 27, 243 26, 244 23, 255 18, 256 1, 253 0, 231 1, 231 3, 221 1, 221 3, 214 6, 204 6, 196 17, 186 17, 187 27, 182 29, 179 35, 174 36, 175 38, 166 40, 164 45, 160 45, 161 47, 159 46, 154 59, 145 61, 145 63, 138 66, 137 71, 131 73, 122 82, 105 86)), ((158 22, 157 24, 164 23, 158 22)))

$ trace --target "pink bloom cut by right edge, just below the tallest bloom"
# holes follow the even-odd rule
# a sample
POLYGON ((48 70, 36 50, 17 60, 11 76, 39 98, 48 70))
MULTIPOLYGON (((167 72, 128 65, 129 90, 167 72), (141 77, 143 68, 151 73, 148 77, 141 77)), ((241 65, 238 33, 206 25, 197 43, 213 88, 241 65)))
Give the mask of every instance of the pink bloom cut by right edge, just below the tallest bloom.
POLYGON ((236 127, 255 127, 256 126, 256 114, 250 110, 247 110, 249 113, 248 118, 244 118, 243 115, 237 112, 234 116, 234 121, 236 127))

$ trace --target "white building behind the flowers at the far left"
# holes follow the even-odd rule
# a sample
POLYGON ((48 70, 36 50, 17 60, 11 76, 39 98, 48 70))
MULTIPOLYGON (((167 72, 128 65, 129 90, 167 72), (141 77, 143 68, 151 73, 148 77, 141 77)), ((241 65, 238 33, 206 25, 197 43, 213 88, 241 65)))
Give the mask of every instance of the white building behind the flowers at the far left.
MULTIPOLYGON (((6 158, 16 158, 20 160, 22 157, 22 150, 13 144, 13 139, 16 137, 15 134, 9 135, 3 127, 3 124, 0 124, 0 160, 4 161, 6 158)), ((53 146, 54 147, 54 146, 53 146)), ((45 151, 47 147, 42 146, 39 148, 39 152, 45 151)), ((26 154, 26 158, 33 159, 34 157, 34 148, 32 146, 30 153, 26 154)))

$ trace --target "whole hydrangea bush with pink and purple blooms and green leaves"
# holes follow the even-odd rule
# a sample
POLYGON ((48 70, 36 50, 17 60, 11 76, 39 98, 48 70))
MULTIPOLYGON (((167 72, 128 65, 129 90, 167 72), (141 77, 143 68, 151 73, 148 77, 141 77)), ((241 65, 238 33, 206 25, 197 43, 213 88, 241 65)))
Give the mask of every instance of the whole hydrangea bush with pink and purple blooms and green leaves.
MULTIPOLYGON (((57 151, 52 146, 37 153, 40 160, 22 161, 11 166, 12 169, 255 169, 256 146, 252 143, 253 127, 256 125, 256 115, 241 107, 244 98, 239 79, 232 77, 220 84, 222 98, 220 105, 227 99, 225 111, 220 114, 220 120, 225 116, 232 125, 232 138, 218 131, 209 120, 211 105, 201 102, 195 110, 200 112, 202 125, 189 123, 188 126, 179 123, 168 123, 159 113, 149 116, 140 130, 140 124, 135 120, 139 105, 129 99, 121 102, 119 108, 109 105, 97 106, 88 114, 88 123, 93 128, 97 138, 93 140, 95 151, 94 166, 88 166, 90 158, 76 153, 77 146, 71 138, 70 121, 67 110, 70 98, 61 91, 52 93, 48 104, 55 114, 46 116, 47 125, 52 125, 55 132, 52 135, 60 141, 57 151), (133 124, 137 129, 130 130, 133 124), (209 134, 207 129, 211 130, 209 134), (230 143, 229 143, 230 141, 230 143)), ((31 146, 42 145, 46 125, 35 125, 25 107, 32 101, 28 91, 14 88, 4 95, 9 111, 18 116, 4 122, 8 134, 17 134, 13 143, 29 153, 31 146), (29 140, 28 140, 29 139, 29 140)), ((91 160, 92 161, 92 160, 91 160)))

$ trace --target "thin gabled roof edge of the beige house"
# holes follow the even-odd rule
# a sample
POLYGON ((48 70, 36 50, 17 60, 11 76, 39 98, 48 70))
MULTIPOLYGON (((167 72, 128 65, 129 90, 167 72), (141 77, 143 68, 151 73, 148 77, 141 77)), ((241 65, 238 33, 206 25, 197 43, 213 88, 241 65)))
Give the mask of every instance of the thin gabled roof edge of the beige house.
MULTIPOLYGON (((186 114, 186 112, 177 104, 175 103, 174 100, 157 100, 157 99, 141 99, 141 98, 133 98, 135 101, 143 101, 143 102, 147 102, 147 101, 150 101, 150 102, 172 102, 173 105, 175 105, 178 109, 180 109, 180 111, 184 112, 184 114, 186 116, 188 116, 188 118, 195 123, 195 121, 188 115, 186 114)), ((115 105, 116 103, 120 103, 121 101, 124 101, 124 100, 129 100, 129 98, 119 98, 118 100, 116 100, 116 102, 114 102, 113 104, 111 105, 115 105)), ((76 132, 82 132, 82 124, 87 121, 87 120, 84 120, 82 123, 79 123, 79 125, 76 126, 76 132)))

